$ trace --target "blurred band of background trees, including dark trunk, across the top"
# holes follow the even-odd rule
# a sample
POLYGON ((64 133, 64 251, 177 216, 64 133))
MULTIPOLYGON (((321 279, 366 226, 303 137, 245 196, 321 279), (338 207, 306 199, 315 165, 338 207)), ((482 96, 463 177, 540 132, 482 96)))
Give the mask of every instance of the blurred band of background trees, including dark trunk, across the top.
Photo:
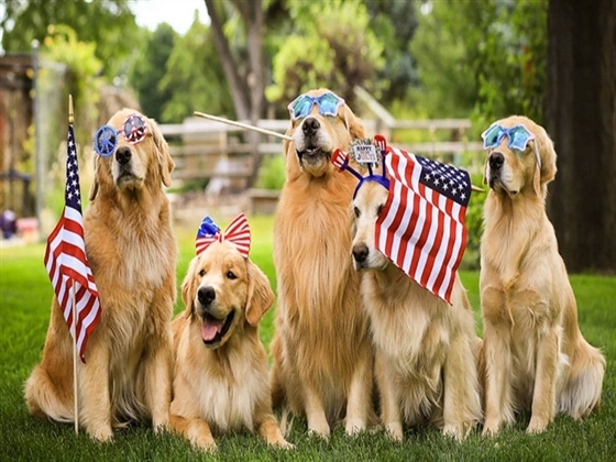
POLYGON ((559 153, 549 210, 566 263, 616 271, 616 0, 204 1, 179 35, 139 28, 129 0, 6 0, 2 48, 36 38, 70 69, 65 91, 97 108, 97 86, 127 91, 160 122, 286 118, 320 86, 358 112, 361 86, 398 118, 470 118, 472 139, 526 114, 559 153))

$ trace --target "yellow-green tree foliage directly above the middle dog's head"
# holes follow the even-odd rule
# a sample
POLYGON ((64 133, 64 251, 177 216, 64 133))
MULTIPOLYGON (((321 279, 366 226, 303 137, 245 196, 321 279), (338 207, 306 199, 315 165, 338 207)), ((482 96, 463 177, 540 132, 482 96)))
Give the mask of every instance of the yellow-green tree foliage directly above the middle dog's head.
POLYGON ((292 1, 289 14, 295 31, 279 37, 270 101, 288 102, 310 88, 329 87, 353 106, 356 85, 378 88, 375 77, 384 66, 383 45, 363 2, 292 1))

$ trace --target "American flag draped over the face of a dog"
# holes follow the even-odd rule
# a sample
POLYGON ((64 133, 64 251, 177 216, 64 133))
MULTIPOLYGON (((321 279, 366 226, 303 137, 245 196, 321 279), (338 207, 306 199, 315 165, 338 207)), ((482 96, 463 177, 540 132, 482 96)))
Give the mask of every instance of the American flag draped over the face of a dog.
POLYGON ((387 202, 376 222, 376 248, 422 287, 451 304, 466 248, 469 173, 405 151, 385 156, 387 202))

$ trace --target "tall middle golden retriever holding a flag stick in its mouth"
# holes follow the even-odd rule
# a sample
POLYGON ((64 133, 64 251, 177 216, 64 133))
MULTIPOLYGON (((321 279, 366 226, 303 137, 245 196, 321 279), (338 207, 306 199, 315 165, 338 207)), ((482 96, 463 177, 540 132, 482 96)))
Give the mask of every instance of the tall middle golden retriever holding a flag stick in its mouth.
POLYGON ((346 150, 353 139, 364 138, 364 128, 329 90, 306 96, 326 100, 322 106, 310 99, 304 107, 299 99, 294 102, 304 111, 292 114, 287 134, 293 142, 285 142, 286 182, 274 221, 278 306, 272 396, 275 406, 284 403, 306 416, 310 433, 328 438, 342 418, 353 435, 373 414, 367 316, 349 258, 349 206, 356 182, 330 162, 336 147, 346 150))

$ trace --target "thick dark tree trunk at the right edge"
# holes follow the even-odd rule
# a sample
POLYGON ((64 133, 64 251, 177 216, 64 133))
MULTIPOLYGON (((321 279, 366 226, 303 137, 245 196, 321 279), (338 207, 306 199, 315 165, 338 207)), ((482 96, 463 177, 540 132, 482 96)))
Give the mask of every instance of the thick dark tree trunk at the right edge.
POLYGON ((571 272, 616 272, 616 0, 550 0, 548 213, 571 272))

